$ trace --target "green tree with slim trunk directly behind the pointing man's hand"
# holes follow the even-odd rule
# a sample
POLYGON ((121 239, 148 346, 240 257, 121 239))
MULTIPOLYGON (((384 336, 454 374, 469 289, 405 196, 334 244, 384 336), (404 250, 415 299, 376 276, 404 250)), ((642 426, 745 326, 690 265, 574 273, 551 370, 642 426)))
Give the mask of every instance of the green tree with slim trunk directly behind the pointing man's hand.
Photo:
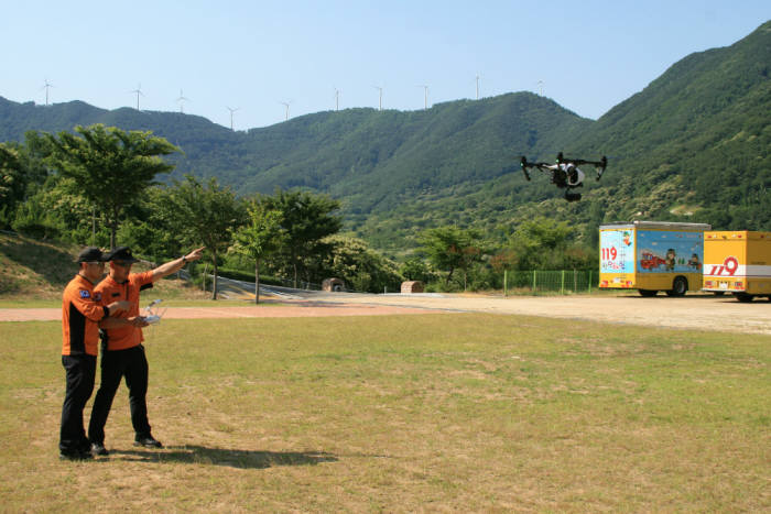
POLYGON ((191 242, 203 242, 211 252, 214 291, 217 299, 217 256, 230 245, 232 230, 243 220, 243 207, 229 188, 222 188, 216 178, 204 186, 192 175, 175 181, 170 194, 170 209, 177 230, 191 242))

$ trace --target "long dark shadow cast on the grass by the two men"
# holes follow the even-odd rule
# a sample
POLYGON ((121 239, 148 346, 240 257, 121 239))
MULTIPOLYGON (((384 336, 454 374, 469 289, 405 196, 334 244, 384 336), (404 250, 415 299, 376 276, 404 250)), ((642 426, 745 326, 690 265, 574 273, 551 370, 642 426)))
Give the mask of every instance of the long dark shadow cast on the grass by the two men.
POLYGON ((171 446, 162 450, 110 450, 120 460, 145 462, 182 462, 231 468, 265 469, 274 466, 316 466, 337 462, 326 451, 252 451, 227 448, 206 448, 196 445, 171 446))

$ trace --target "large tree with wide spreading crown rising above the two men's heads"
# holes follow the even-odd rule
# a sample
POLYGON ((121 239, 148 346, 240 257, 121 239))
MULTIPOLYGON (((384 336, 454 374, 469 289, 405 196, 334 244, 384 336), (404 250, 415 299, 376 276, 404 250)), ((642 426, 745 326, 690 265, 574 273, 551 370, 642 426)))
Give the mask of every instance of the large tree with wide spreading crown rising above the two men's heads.
POLYGON ((158 174, 174 168, 160 156, 180 149, 152 132, 126 132, 102 124, 77 125, 75 132, 82 138, 69 132, 46 134, 53 146, 52 162, 106 218, 110 247, 115 248, 123 209, 154 184, 158 174))

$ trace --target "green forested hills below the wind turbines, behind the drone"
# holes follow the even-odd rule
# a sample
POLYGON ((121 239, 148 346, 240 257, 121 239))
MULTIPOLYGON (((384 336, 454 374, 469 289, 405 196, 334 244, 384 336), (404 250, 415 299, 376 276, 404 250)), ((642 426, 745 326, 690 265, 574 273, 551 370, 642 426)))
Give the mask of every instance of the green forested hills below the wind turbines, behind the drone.
POLYGON ((276 186, 329 193, 348 229, 392 253, 425 228, 476 227, 500 241, 535 216, 568 220, 589 243, 604 220, 771 230, 769 66, 771 22, 683 58, 596 121, 529 92, 424 111, 319 112, 248 132, 181 113, 0 98, 0 141, 95 122, 152 130, 184 151, 174 175, 217 176, 245 195, 276 186), (546 177, 525 183, 519 171, 519 155, 551 161, 561 150, 609 157, 580 203, 565 203, 546 177))

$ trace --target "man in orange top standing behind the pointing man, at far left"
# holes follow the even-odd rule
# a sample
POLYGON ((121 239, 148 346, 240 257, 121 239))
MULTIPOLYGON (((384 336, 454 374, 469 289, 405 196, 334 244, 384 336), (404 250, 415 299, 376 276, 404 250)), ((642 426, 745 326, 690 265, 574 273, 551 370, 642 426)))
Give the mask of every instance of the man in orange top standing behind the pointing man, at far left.
MULTIPOLYGON (((102 303, 94 284, 105 274, 101 250, 85 248, 77 256, 80 269, 62 295, 62 365, 66 391, 62 406, 59 457, 88 459, 90 445, 83 428, 83 409, 94 392, 99 321, 129 308, 128 302, 102 303)), ((127 321, 123 321, 127 322, 127 321)))

